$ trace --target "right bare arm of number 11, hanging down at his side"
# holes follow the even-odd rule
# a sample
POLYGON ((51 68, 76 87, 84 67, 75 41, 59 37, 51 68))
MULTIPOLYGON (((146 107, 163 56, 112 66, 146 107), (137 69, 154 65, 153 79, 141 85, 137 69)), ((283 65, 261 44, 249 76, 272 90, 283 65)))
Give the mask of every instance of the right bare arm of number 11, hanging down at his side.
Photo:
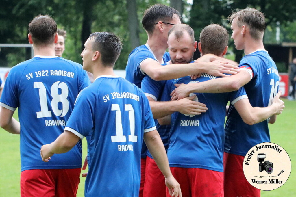
POLYGON ((165 177, 165 185, 168 187, 170 195, 182 197, 180 184, 170 172, 170 166, 168 164, 168 157, 165 152, 165 147, 157 130, 144 133, 144 141, 157 166, 165 177))

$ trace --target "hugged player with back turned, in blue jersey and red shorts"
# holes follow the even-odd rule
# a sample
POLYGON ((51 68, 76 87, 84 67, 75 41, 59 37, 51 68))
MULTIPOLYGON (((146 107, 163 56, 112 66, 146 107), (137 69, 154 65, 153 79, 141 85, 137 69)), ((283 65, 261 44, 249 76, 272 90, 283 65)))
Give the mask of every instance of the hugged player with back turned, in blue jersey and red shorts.
MULTIPOLYGON (((181 34, 180 29, 176 29, 170 35, 175 39, 170 40, 169 36, 169 49, 178 48, 180 35, 183 40, 184 37, 189 37, 188 33, 181 34)), ((198 49, 201 56, 212 53, 222 58, 226 54, 227 43, 227 30, 213 24, 202 30, 198 49)), ((192 44, 191 41, 190 45, 192 44)), ((196 80, 191 80, 189 76, 170 80, 166 84, 164 95, 167 95, 167 99, 170 98, 175 83, 202 83, 214 78, 215 76, 203 73, 196 80)), ((231 93, 196 95, 200 102, 207 105, 208 111, 198 116, 177 112, 172 114, 168 147, 170 167, 184 196, 223 196, 224 120, 227 102, 230 100, 243 118, 252 116, 258 122, 281 112, 283 103, 278 101, 277 95, 272 106, 252 108, 243 88, 231 93)), ((170 116, 168 120, 170 122, 170 116)), ((160 122, 163 124, 163 121, 160 122)))

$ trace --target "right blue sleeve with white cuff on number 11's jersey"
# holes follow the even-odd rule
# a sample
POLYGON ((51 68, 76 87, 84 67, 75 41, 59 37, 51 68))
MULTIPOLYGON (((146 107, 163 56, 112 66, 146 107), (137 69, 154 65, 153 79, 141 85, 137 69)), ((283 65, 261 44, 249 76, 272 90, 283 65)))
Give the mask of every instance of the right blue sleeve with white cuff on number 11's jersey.
POLYGON ((145 123, 144 123, 144 133, 153 131, 156 129, 155 121, 153 119, 153 115, 151 112, 151 108, 149 105, 149 101, 144 93, 141 93, 141 97, 143 99, 144 110, 145 110, 145 123))

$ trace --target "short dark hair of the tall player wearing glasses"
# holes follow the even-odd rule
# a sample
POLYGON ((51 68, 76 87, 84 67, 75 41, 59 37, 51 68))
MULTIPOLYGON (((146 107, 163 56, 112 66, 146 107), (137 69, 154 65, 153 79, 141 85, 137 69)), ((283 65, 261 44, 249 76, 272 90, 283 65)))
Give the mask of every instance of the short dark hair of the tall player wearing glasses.
POLYGON ((158 21, 169 22, 172 20, 175 14, 181 20, 180 12, 172 7, 168 7, 163 4, 155 4, 153 6, 150 6, 144 11, 143 14, 143 28, 148 33, 153 33, 155 23, 157 23, 158 21))

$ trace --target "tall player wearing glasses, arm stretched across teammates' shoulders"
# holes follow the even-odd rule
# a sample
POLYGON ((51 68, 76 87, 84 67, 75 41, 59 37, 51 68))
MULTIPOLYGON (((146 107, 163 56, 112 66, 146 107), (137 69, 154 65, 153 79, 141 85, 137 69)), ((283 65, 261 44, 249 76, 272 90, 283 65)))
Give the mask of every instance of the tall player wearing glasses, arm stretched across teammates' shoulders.
MULTIPOLYGON (((148 40, 145 45, 134 49, 128 56, 126 65, 126 79, 141 88, 144 75, 149 75, 153 80, 169 80, 195 73, 207 72, 216 76, 227 76, 224 73, 236 74, 238 67, 231 64, 223 64, 218 61, 208 62, 200 59, 194 64, 186 67, 180 64, 161 66, 170 60, 169 54, 165 52, 168 48, 168 31, 173 25, 181 23, 180 13, 171 7, 155 4, 147 8, 142 18, 142 26, 146 30, 148 40)), ((191 103, 190 100, 184 100, 191 103)), ((172 106, 167 105, 167 109, 172 106)), ((142 196, 145 180, 145 159, 147 148, 142 151, 142 178, 140 196, 142 196)))

